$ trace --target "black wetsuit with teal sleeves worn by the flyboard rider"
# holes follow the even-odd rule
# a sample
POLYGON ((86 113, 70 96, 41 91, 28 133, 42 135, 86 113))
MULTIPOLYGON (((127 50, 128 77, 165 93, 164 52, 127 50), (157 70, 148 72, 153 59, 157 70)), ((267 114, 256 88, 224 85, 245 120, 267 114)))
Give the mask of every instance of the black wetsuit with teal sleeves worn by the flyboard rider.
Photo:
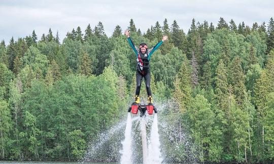
POLYGON ((151 55, 153 54, 153 52, 155 50, 157 50, 162 45, 163 42, 161 40, 153 48, 151 48, 149 50, 147 49, 145 54, 143 54, 141 52, 141 50, 133 44, 130 37, 128 37, 127 40, 128 40, 130 47, 133 49, 133 51, 136 55, 136 61, 137 61, 135 95, 140 94, 142 79, 143 79, 143 77, 145 77, 146 89, 147 89, 148 96, 152 96, 151 89, 150 89, 150 78, 151 77, 150 77, 149 61, 150 61, 150 58, 151 58, 151 55))

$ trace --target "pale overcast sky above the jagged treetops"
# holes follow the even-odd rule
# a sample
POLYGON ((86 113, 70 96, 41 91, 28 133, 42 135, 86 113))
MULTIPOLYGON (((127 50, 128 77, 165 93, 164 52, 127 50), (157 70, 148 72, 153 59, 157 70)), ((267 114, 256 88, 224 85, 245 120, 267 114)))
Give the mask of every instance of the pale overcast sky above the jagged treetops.
POLYGON ((136 28, 146 32, 156 21, 162 25, 167 18, 171 25, 177 21, 180 28, 188 31, 194 18, 199 22, 212 22, 216 27, 220 17, 228 23, 231 19, 236 25, 245 22, 252 26, 254 22, 268 24, 274 18, 273 0, 191 0, 191 1, 124 1, 124 0, 0 0, 0 40, 8 44, 13 36, 30 35, 36 31, 40 39, 49 28, 62 40, 68 31, 81 27, 82 32, 90 23, 91 27, 101 21, 105 32, 111 36, 116 25, 123 30, 129 26, 132 18, 136 28))

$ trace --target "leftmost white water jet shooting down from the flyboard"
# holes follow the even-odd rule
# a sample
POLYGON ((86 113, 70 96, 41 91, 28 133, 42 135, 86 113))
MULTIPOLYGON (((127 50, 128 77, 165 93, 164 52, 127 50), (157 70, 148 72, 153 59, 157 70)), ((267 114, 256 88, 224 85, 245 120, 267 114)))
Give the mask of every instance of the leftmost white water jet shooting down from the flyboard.
POLYGON ((126 129, 125 129, 125 139, 122 141, 123 148, 120 151, 122 154, 121 163, 130 164, 131 162, 131 115, 130 112, 127 113, 126 129))

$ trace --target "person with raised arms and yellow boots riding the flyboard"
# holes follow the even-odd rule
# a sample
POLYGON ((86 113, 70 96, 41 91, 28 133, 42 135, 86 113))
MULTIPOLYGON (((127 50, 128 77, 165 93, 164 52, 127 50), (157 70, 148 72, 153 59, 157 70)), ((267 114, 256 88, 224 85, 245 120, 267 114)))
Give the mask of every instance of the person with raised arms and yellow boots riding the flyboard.
POLYGON ((136 47, 129 36, 129 30, 125 30, 125 35, 127 37, 127 41, 130 47, 133 49, 136 55, 136 61, 137 61, 135 101, 132 104, 133 105, 140 104, 139 95, 140 95, 141 83, 142 83, 143 77, 145 77, 146 89, 148 94, 148 105, 153 105, 153 98, 152 98, 151 89, 150 89, 151 76, 150 76, 149 61, 154 51, 156 51, 163 44, 163 42, 168 39, 168 37, 164 35, 160 42, 158 42, 153 48, 148 49, 148 46, 146 43, 141 43, 139 48, 136 47))

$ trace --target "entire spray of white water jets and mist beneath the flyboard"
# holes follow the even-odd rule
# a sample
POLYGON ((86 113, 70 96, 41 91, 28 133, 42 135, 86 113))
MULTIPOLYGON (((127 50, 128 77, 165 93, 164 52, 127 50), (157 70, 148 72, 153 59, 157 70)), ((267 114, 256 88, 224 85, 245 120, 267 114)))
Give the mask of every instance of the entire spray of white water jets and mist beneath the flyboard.
POLYGON ((83 162, 197 163, 200 152, 181 125, 177 104, 156 104, 158 114, 140 117, 127 113, 120 124, 100 134, 98 140, 90 141, 83 162))

